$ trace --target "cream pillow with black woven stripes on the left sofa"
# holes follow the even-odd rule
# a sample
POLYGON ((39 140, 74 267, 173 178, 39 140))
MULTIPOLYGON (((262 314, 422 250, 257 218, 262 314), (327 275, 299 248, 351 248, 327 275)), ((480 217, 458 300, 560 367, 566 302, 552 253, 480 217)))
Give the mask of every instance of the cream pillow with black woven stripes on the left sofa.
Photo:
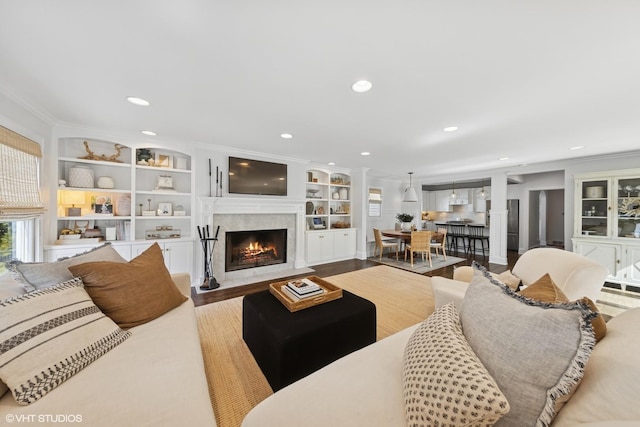
POLYGON ((129 338, 76 278, 0 301, 0 379, 28 405, 129 338))

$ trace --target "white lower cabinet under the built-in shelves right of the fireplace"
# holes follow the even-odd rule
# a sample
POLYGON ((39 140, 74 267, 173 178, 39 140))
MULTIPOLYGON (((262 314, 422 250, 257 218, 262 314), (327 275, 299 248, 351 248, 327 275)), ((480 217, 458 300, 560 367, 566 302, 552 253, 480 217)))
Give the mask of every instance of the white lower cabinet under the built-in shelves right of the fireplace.
POLYGON ((356 255, 356 230, 307 231, 307 265, 351 259, 356 255))

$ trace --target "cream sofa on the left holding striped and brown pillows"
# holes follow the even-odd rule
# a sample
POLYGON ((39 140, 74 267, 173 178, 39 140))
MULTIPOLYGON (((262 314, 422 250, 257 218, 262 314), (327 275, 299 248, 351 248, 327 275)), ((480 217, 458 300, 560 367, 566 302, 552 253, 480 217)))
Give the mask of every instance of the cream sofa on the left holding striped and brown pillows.
MULTIPOLYGON (((190 296, 189 275, 173 279, 190 296)), ((2 276, 0 299, 22 293, 2 276)), ((4 393, 0 423, 215 426, 193 301, 130 330, 130 338, 37 402, 20 406, 4 393)))

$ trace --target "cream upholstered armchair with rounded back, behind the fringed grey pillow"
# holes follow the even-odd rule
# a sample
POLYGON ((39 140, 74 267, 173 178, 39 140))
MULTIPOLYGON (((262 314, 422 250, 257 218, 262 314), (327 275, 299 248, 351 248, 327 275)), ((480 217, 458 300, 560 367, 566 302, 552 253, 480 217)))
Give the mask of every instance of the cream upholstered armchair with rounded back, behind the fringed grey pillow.
MULTIPOLYGON (((582 297, 596 301, 608 271, 596 261, 574 252, 536 248, 520 256, 513 266, 512 273, 524 286, 549 273, 553 282, 562 289, 570 301, 582 297)), ((453 273, 453 279, 432 277, 436 308, 450 301, 454 301, 459 308, 472 278, 473 269, 470 266, 458 267, 453 273)))

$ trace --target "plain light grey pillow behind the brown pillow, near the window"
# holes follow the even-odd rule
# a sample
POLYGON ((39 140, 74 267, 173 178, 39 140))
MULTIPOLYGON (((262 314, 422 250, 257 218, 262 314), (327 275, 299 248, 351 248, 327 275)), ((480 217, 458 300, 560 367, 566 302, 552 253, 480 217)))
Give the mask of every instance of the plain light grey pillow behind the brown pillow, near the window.
POLYGON ((111 243, 105 243, 90 251, 69 258, 60 258, 56 262, 11 261, 7 266, 14 273, 15 279, 27 292, 31 292, 73 279, 69 267, 90 261, 127 262, 113 249, 111 243))

